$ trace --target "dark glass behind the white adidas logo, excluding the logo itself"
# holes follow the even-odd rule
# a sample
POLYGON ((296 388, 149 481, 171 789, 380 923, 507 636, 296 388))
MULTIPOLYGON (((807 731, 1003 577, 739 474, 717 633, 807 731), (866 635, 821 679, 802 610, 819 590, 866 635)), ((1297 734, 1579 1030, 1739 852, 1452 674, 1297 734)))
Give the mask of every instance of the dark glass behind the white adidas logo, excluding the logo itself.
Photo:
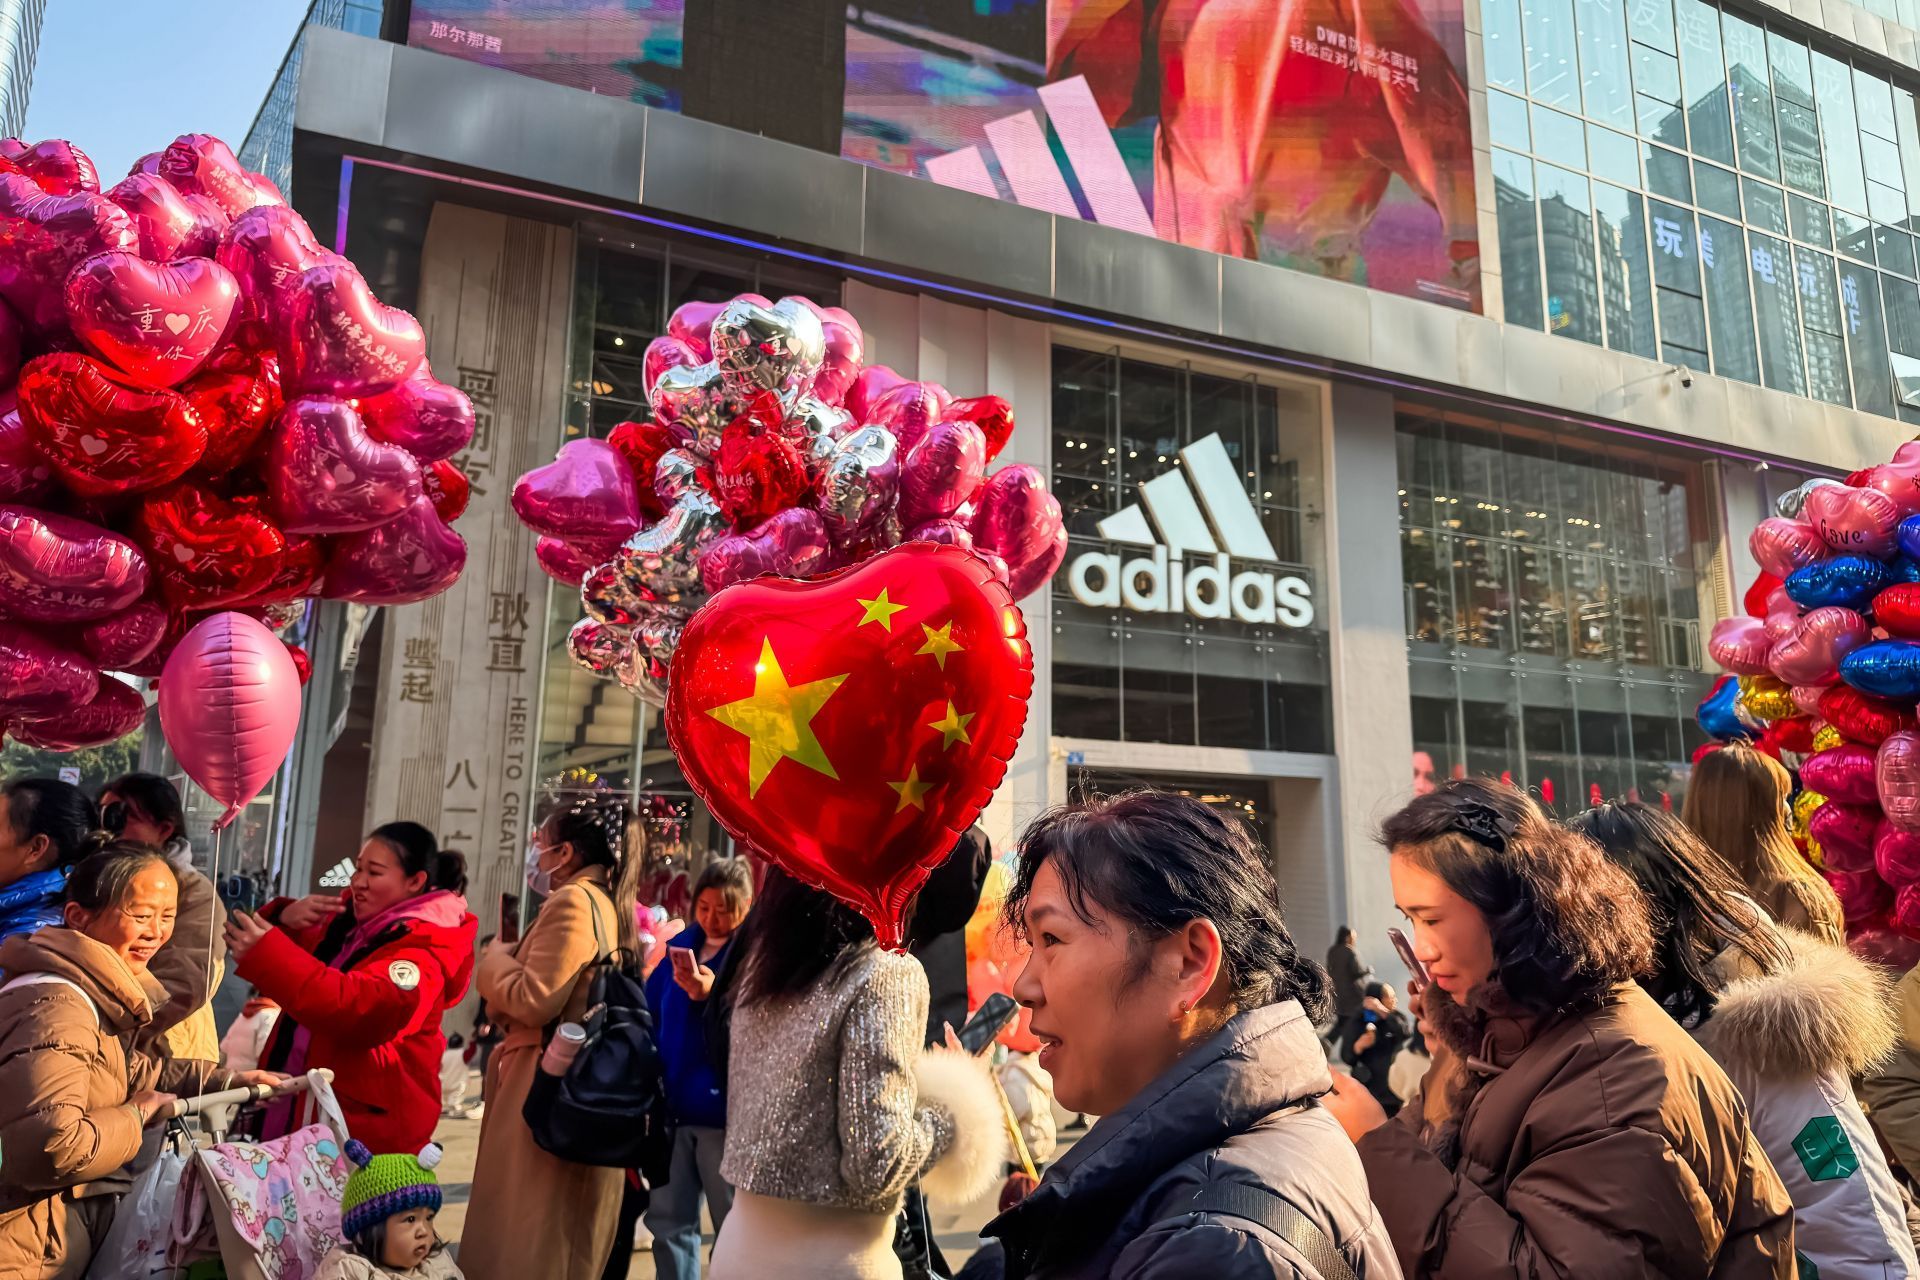
MULTIPOLYGON (((1087 604, 1073 591, 1083 555, 1154 555, 1102 537, 1098 524, 1142 503, 1140 482, 1179 470, 1181 449, 1210 436, 1225 445, 1277 557, 1229 557, 1229 574, 1279 572, 1311 587, 1321 564, 1321 388, 1068 345, 1054 347, 1052 380, 1052 482, 1069 539, 1052 585, 1054 733, 1332 750, 1325 629, 1204 618, 1181 604, 1087 604)), ((1240 501, 1204 486, 1187 491, 1208 505, 1240 501)), ((1185 572, 1210 562, 1192 553, 1185 572)))

